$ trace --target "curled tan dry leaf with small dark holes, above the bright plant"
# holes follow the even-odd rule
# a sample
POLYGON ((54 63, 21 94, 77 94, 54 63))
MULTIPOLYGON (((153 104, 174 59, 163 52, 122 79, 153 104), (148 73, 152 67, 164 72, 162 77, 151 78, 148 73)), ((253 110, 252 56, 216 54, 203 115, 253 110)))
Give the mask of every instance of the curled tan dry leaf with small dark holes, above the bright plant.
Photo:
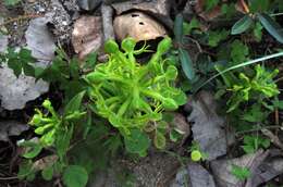
POLYGON ((119 40, 128 36, 137 41, 150 40, 167 35, 165 28, 160 23, 139 11, 116 16, 114 32, 119 40))

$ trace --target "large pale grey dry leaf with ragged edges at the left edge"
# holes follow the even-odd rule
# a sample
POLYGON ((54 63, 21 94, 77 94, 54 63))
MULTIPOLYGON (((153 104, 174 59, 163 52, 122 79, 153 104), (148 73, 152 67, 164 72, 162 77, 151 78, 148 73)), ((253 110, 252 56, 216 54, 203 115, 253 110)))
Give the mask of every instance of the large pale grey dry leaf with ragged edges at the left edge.
POLYGON ((23 109, 27 101, 34 100, 48 91, 49 84, 34 77, 16 77, 11 68, 2 64, 0 68, 0 100, 7 110, 23 109))

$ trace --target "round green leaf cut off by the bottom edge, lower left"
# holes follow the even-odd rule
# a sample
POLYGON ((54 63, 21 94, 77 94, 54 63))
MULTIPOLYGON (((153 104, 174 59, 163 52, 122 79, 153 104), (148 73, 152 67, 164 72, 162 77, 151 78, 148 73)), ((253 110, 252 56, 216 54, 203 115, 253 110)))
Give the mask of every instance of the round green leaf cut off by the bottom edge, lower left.
POLYGON ((88 180, 86 170, 79 165, 69 165, 63 173, 66 187, 85 187, 88 180))

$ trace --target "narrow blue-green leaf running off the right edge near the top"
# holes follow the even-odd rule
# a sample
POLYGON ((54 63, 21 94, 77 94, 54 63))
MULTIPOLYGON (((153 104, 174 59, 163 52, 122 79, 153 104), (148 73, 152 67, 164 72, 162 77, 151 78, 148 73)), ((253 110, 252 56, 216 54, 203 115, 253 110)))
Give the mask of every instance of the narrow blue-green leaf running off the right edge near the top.
POLYGON ((273 36, 279 42, 283 43, 283 28, 268 14, 260 13, 257 14, 257 16, 263 27, 268 30, 268 33, 273 36))

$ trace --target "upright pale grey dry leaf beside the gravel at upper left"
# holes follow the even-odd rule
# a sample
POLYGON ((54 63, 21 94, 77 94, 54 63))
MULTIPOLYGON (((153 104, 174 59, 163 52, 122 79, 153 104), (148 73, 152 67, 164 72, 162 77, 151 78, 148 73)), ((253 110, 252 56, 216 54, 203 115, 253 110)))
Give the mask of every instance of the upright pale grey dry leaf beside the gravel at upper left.
POLYGON ((38 17, 29 22, 25 33, 27 48, 32 50, 34 58, 44 61, 51 61, 54 58, 56 43, 46 24, 46 17, 38 17))

